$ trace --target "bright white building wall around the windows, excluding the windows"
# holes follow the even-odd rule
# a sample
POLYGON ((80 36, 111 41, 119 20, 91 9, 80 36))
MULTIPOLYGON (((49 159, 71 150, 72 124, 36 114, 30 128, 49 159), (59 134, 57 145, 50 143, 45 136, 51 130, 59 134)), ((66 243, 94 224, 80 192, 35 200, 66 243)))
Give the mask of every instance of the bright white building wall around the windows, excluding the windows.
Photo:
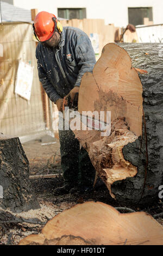
POLYGON ((120 27, 128 24, 128 7, 153 7, 154 24, 163 23, 163 0, 14 0, 14 5, 49 11, 56 16, 57 8, 86 8, 87 19, 104 19, 105 24, 120 27))

